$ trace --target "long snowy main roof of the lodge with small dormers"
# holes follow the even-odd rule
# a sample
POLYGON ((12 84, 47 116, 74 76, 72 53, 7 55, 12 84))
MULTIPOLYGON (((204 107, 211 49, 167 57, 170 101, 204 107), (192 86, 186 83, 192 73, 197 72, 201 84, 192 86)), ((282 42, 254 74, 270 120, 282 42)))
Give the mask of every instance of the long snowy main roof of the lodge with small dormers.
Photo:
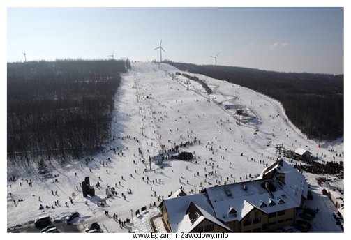
POLYGON ((264 213, 272 213, 299 207, 301 196, 306 197, 308 191, 304 176, 283 160, 266 170, 271 172, 274 169, 276 173, 284 174, 285 183, 277 177, 271 177, 245 182, 246 190, 243 183, 206 188, 217 218, 223 222, 231 222, 241 220, 253 208, 260 209, 264 213), (275 188, 270 191, 272 195, 265 188, 266 182, 275 188), (235 209, 237 214, 229 214, 231 208, 235 209))

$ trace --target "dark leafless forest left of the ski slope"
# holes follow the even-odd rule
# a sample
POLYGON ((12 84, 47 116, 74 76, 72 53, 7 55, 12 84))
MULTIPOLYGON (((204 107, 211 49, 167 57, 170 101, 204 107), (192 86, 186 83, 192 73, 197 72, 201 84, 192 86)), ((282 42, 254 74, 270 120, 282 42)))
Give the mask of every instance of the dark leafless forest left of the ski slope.
POLYGON ((8 63, 8 158, 83 156, 110 140, 114 94, 130 61, 8 63))

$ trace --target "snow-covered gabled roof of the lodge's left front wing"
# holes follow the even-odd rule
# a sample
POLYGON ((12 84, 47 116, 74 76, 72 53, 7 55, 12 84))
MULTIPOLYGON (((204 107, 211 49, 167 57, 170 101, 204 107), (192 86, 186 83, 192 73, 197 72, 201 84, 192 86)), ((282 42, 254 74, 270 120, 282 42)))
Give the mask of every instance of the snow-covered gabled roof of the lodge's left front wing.
POLYGON ((214 210, 204 193, 184 197, 174 197, 164 200, 164 202, 172 232, 191 232, 191 230, 199 225, 204 219, 210 220, 211 222, 231 231, 229 227, 216 218, 214 210), (195 221, 194 218, 190 217, 190 214, 186 213, 191 203, 193 203, 198 210, 198 213, 195 213, 197 214, 195 221))

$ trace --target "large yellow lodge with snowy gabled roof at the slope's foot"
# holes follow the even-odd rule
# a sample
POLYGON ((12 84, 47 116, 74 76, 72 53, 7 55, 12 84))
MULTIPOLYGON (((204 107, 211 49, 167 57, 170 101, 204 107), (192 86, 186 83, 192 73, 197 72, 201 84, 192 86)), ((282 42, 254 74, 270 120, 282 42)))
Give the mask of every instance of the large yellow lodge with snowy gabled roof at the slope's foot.
POLYGON ((269 232, 294 224, 307 193, 304 175, 278 160, 253 181, 172 195, 161 212, 168 232, 269 232))

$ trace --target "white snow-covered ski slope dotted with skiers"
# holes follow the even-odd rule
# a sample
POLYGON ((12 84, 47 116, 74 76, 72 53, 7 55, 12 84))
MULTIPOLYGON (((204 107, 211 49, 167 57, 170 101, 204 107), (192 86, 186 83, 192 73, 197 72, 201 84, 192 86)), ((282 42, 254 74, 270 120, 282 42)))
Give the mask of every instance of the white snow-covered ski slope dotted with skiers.
MULTIPOLYGON (((29 223, 43 215, 59 220, 71 211, 79 211, 78 222, 88 225, 97 221, 104 232, 128 232, 128 227, 121 227, 112 218, 114 213, 122 221, 133 214, 133 231, 149 232, 149 218, 159 213, 154 204, 158 206, 162 197, 180 187, 186 193, 195 193, 200 186, 247 181, 250 174, 260 174, 264 165, 277 160, 276 144, 292 150, 304 148, 314 156, 323 156, 322 160, 334 160, 333 154, 343 152, 343 142, 322 143, 320 148, 320 142, 308 140, 290 123, 276 100, 245 87, 196 75, 213 91, 209 102, 200 84, 189 80, 187 90, 187 79, 174 75, 176 72, 181 71, 163 63, 133 63, 115 96, 112 121, 115 139, 105 146, 105 151, 89 156, 92 160, 87 163, 85 158, 69 163, 52 160, 49 168, 57 175, 54 178, 57 181, 40 181, 36 165, 8 168, 8 178, 19 178, 15 182, 8 181, 8 227, 29 223), (238 125, 237 116, 233 117, 237 107, 245 110, 249 117, 257 118, 238 125), (196 160, 167 160, 163 168, 151 163, 149 170, 149 156, 157 155, 161 146, 170 149, 175 144, 195 139, 195 144, 182 147, 180 151, 195 153, 196 160), (331 149, 334 152, 329 151, 331 149), (211 171, 215 174, 209 176, 211 171), (95 188, 96 197, 82 196, 80 183, 84 177, 90 177, 94 186, 99 181, 101 187, 95 188), (116 188, 118 194, 107 198, 105 207, 98 207, 98 199, 105 198, 107 186, 116 188), (55 206, 57 200, 59 205, 55 206), (40 204, 54 209, 39 210, 40 204), (144 206, 147 213, 135 217, 135 211, 144 206), (110 216, 105 216, 106 210, 110 216)), ((336 161, 343 161, 343 154, 341 156, 336 157, 336 161)), ((310 203, 320 209, 313 220, 312 232, 341 232, 331 216, 336 208, 321 196, 321 188, 315 181, 318 176, 306 174, 306 177, 314 193, 310 203)), ((343 187, 343 181, 339 184, 343 187)))

